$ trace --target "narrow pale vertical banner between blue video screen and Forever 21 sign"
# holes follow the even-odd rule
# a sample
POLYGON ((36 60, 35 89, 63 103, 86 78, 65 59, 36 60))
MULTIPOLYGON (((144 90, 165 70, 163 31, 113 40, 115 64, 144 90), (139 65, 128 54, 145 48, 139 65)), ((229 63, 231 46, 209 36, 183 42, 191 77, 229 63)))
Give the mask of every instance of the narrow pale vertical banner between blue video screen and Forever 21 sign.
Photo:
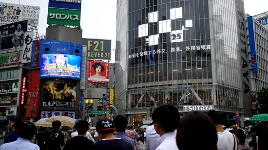
POLYGON ((86 69, 87 69, 87 47, 83 46, 82 52, 82 63, 81 63, 81 81, 80 81, 80 89, 86 89, 86 69))

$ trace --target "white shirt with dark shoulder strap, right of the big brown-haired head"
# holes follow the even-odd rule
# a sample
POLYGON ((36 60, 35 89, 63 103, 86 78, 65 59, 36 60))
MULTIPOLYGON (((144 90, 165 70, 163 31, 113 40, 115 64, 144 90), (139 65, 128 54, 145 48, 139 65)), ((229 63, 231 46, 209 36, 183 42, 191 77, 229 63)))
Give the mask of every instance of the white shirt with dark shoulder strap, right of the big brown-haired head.
POLYGON ((223 133, 218 134, 218 150, 233 150, 234 141, 235 141, 235 150, 237 150, 237 142, 233 139, 233 134, 229 131, 224 131, 223 133))

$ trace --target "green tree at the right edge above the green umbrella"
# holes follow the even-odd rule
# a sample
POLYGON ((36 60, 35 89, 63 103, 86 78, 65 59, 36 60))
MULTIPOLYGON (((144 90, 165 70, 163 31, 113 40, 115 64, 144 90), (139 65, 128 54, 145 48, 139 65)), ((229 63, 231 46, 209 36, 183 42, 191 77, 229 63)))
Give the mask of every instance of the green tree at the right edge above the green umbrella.
POLYGON ((262 88, 257 92, 257 105, 261 106, 261 113, 268 113, 268 88, 262 88))

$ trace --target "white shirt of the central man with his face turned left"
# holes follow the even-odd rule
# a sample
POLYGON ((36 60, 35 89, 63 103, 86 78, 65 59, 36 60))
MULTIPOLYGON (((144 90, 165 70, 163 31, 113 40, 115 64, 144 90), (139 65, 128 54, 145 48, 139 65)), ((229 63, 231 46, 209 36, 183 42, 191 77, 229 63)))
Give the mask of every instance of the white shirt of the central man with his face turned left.
POLYGON ((160 145, 156 150, 179 150, 176 143, 177 130, 169 133, 165 133, 158 140, 157 143, 160 145))

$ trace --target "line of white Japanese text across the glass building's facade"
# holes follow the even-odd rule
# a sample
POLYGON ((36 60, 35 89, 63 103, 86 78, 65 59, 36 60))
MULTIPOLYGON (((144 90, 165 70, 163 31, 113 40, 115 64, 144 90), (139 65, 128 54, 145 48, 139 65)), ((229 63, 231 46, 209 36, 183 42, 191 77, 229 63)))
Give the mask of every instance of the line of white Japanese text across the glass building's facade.
MULTIPOLYGON (((193 51, 193 50, 211 50, 211 45, 197 45, 197 46, 186 46, 186 51, 193 51)), ((170 52, 176 52, 176 51, 182 51, 180 47, 172 47, 170 49, 170 52)), ((152 55, 152 54, 159 54, 159 53, 167 53, 168 50, 166 49, 158 49, 158 50, 150 50, 150 51, 142 51, 140 53, 133 53, 129 55, 129 59, 136 58, 136 57, 142 57, 146 55, 152 55)))

